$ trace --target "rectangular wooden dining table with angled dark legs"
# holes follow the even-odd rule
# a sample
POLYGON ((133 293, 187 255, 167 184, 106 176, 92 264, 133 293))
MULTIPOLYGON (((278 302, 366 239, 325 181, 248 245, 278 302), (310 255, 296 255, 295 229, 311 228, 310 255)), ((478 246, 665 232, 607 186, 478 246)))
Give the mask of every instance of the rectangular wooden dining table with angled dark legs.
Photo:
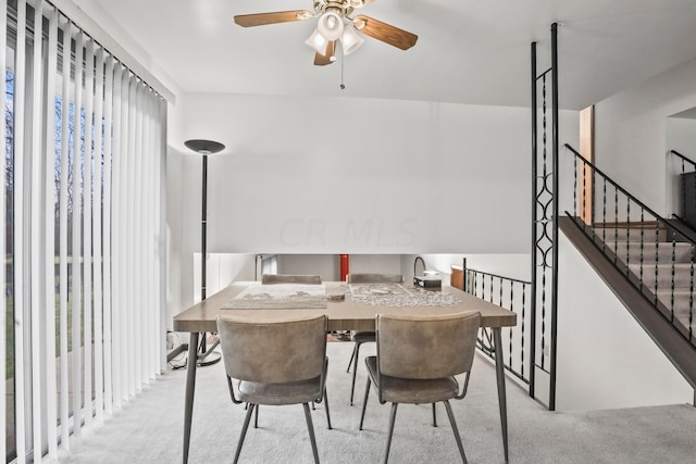
POLYGON ((376 314, 423 315, 480 312, 481 327, 493 333, 498 407, 505 462, 508 462, 508 417, 506 374, 502 353, 504 327, 517 325, 517 314, 505 308, 476 298, 460 289, 443 285, 423 289, 415 285, 397 284, 396 291, 377 291, 370 287, 325 281, 316 294, 302 292, 290 304, 277 304, 279 287, 258 281, 233 281, 216 293, 182 311, 173 318, 173 329, 189 333, 186 393, 184 400, 183 462, 188 462, 191 438, 191 418, 196 391, 196 369, 200 337, 216 333, 219 315, 234 315, 253 322, 273 322, 287 318, 326 314, 328 331, 375 330, 376 314), (273 288, 272 288, 273 287, 273 288), (389 294, 381 294, 389 293, 389 294), (386 298, 385 298, 386 297, 386 298))

